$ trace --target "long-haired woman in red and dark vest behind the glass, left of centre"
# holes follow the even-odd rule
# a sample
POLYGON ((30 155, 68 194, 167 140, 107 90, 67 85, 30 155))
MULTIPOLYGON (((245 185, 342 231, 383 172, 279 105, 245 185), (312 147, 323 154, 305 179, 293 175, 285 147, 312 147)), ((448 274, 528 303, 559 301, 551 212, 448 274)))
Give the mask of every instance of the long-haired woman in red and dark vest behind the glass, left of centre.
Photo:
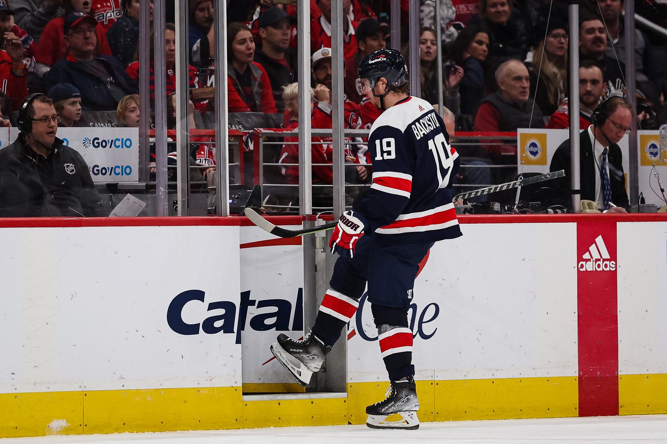
POLYGON ((271 82, 253 61, 255 42, 242 23, 227 24, 227 109, 230 113, 277 113, 271 82))

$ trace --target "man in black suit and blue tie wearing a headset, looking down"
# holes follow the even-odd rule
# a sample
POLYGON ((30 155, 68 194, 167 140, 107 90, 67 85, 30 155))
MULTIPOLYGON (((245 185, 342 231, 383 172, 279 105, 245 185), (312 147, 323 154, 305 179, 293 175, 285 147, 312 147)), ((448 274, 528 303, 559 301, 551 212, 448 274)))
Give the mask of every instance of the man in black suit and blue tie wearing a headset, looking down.
MULTIPOLYGON (((630 204, 618 142, 630 132, 632 107, 623 97, 614 96, 598 108, 593 125, 579 135, 581 198, 596 202, 605 213, 626 213, 630 204)), ((551 183, 554 203, 572 209, 570 144, 568 139, 556 149, 549 170, 565 170, 565 177, 551 183)))

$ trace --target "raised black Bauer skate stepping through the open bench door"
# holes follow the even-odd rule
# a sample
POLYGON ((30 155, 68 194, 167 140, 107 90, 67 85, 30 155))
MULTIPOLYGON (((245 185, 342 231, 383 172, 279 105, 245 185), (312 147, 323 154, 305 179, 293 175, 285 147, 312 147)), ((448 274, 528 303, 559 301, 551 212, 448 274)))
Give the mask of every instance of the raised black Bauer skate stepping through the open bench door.
POLYGON ((289 371, 303 387, 308 385, 313 373, 319 371, 324 363, 324 357, 331 351, 319 340, 307 333, 302 340, 297 341, 283 335, 278 335, 277 341, 271 344, 271 353, 285 370, 289 371))

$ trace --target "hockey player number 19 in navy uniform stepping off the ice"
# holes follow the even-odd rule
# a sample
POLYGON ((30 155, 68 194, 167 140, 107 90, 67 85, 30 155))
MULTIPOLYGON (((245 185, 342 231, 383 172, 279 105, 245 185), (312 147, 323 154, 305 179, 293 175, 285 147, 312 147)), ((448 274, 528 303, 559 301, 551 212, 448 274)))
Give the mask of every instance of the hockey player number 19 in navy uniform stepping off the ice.
POLYGON ((271 351, 301 385, 307 385, 354 316, 368 282, 368 301, 391 385, 384 401, 366 407, 366 424, 417 429, 419 401, 408 308, 419 263, 430 247, 461 235, 452 204, 452 177, 459 159, 433 107, 407 95, 408 66, 400 52, 374 51, 364 57, 358 73, 360 95, 383 111, 368 140, 372 186, 333 230, 329 247, 340 257, 311 333, 301 341, 281 334, 271 351), (387 421, 394 413, 402 420, 387 421))

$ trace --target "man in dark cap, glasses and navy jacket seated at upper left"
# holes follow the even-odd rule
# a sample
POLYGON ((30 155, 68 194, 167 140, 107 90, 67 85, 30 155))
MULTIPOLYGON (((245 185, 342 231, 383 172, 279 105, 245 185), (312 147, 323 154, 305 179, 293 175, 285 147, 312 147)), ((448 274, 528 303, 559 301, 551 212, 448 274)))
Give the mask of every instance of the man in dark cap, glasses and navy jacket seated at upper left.
POLYGON ((81 91, 81 105, 93 111, 109 111, 125 95, 137 93, 137 82, 130 79, 115 57, 95 55, 97 20, 91 15, 74 12, 67 16, 63 30, 69 49, 51 67, 45 87, 71 83, 81 91))

